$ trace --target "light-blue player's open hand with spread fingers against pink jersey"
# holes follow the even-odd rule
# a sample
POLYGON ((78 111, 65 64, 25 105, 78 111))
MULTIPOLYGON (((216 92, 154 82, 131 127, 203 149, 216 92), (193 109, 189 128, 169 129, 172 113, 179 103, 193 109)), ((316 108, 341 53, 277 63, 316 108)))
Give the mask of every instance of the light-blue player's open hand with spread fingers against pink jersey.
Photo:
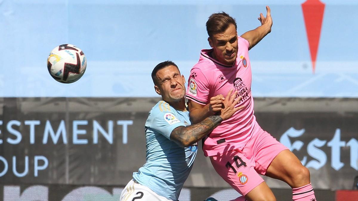
POLYGON ((230 118, 236 111, 244 108, 245 106, 235 107, 237 103, 241 100, 241 96, 235 99, 237 91, 232 94, 232 89, 226 95, 225 100, 223 101, 224 107, 221 109, 220 117, 223 120, 230 118))

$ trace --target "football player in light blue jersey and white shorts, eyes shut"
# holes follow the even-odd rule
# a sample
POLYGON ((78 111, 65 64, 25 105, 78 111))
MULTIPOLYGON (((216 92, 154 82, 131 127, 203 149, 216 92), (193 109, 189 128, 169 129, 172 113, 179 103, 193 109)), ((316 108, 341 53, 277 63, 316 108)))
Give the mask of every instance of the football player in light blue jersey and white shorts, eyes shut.
POLYGON ((241 99, 234 100, 237 93, 231 95, 231 91, 225 98, 217 95, 208 109, 220 115, 190 125, 184 99, 185 78, 178 66, 171 61, 159 63, 152 78, 163 100, 152 108, 145 123, 146 163, 133 173, 121 201, 177 201, 193 167, 197 142, 242 108, 234 107, 241 99))

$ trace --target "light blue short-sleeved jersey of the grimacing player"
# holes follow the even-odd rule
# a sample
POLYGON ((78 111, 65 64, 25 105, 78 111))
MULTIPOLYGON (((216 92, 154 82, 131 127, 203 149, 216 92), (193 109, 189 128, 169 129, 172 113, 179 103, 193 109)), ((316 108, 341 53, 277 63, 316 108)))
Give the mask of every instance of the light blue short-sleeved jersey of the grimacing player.
POLYGON ((174 128, 188 125, 189 112, 177 111, 163 100, 152 108, 145 123, 146 163, 133 178, 169 200, 178 200, 197 154, 197 143, 182 148, 170 140, 174 128))

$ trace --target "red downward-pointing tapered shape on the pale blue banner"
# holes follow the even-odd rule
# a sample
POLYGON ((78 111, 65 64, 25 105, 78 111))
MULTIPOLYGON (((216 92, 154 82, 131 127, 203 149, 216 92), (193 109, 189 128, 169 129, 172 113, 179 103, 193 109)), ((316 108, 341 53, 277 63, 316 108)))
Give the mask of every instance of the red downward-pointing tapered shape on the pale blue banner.
POLYGON ((310 46, 312 71, 315 72, 317 50, 324 13, 324 3, 319 0, 307 0, 301 4, 305 19, 308 44, 310 46))

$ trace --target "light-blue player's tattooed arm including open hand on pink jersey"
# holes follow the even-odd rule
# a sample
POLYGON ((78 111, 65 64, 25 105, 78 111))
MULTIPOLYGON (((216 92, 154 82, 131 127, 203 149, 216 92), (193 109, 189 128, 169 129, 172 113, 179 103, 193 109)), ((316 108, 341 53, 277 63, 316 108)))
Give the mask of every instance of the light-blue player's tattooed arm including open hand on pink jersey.
POLYGON ((170 139, 179 144, 179 146, 188 147, 190 144, 198 142, 200 139, 205 137, 223 120, 230 118, 236 111, 243 108, 243 106, 235 107, 241 100, 241 97, 235 100, 237 92, 232 95, 231 93, 232 90, 230 90, 223 102, 224 108, 221 109, 220 116, 210 116, 197 124, 192 124, 187 127, 177 127, 171 132, 170 139))

